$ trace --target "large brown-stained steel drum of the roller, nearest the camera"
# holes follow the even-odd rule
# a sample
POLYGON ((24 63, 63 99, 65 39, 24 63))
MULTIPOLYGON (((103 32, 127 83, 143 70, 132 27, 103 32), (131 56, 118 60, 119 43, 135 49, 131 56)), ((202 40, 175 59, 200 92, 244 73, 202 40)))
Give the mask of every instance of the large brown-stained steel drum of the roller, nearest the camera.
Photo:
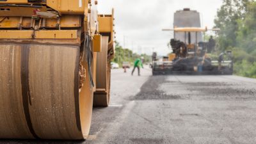
POLYGON ((0 138, 88 136, 93 92, 86 81, 79 93, 79 55, 79 46, 0 44, 0 138))

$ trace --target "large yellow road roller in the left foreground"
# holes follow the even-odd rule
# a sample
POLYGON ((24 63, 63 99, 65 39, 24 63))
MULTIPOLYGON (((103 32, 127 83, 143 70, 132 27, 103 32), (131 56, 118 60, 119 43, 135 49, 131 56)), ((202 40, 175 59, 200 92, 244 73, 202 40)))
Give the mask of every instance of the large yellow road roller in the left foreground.
POLYGON ((0 1, 0 138, 88 137, 93 93, 101 89, 104 96, 95 104, 108 106, 113 57, 113 18, 108 26, 100 22, 97 4, 0 1))

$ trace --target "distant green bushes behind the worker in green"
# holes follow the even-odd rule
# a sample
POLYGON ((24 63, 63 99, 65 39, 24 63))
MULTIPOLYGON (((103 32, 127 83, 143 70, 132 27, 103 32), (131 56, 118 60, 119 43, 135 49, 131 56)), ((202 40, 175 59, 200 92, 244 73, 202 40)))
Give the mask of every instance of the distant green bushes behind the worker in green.
POLYGON ((122 63, 124 61, 128 61, 133 65, 133 62, 137 58, 141 58, 141 56, 144 58, 144 63, 149 63, 151 61, 151 56, 148 56, 147 54, 136 54, 133 53, 130 49, 124 49, 121 45, 119 45, 118 42, 116 42, 115 45, 115 57, 113 58, 113 62, 118 63, 118 65, 122 66, 122 63))

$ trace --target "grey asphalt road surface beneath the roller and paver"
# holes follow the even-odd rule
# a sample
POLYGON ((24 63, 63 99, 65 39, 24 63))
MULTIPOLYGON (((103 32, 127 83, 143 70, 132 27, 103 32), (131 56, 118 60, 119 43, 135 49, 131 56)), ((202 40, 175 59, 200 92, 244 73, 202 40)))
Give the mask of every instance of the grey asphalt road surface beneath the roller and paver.
POLYGON ((256 80, 112 71, 109 108, 93 108, 86 141, 0 143, 256 143, 256 80))

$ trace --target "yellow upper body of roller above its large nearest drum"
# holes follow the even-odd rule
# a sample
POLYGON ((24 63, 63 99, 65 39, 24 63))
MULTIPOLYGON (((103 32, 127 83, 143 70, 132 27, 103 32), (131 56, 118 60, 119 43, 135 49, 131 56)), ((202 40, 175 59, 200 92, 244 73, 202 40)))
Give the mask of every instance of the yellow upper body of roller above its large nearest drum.
MULTIPOLYGON (((88 0, 47 0, 46 3, 28 3, 28 1, 1 1, 0 2, 0 29, 17 28, 20 31, 28 29, 47 29, 47 33, 56 34, 56 31, 61 28, 81 28, 84 23, 83 31, 94 35, 97 31, 97 6, 95 1, 88 0), (12 5, 10 5, 12 4, 12 5), (14 5, 15 4, 15 5, 14 5), (36 5, 33 5, 36 4, 36 5), (95 16, 89 16, 95 15, 95 16), (40 19, 38 22, 36 20, 40 19), (83 19, 83 20, 82 20, 83 19), (90 25, 90 31, 88 26, 90 25)), ((8 32, 9 31, 5 31, 8 32)), ((30 33, 30 31, 26 31, 30 33)), ((25 32, 25 33, 26 33, 25 32)), ((12 31, 10 34, 12 35, 12 31)), ((19 31, 17 31, 19 33, 19 31)), ((23 33, 23 32, 22 32, 23 33)), ((74 34, 74 33, 73 33, 74 34)), ((19 35, 19 34, 18 34, 19 35)), ((9 36, 12 38, 12 36, 9 36)), ((52 36, 50 36, 52 37, 52 36)), ((60 36, 56 36, 59 38, 60 36)), ((2 36, 2 38, 4 38, 2 36)), ((8 38, 8 36, 6 36, 8 38)), ((21 37, 22 38, 22 37, 21 37)), ((25 36, 24 38, 28 38, 25 36)))

